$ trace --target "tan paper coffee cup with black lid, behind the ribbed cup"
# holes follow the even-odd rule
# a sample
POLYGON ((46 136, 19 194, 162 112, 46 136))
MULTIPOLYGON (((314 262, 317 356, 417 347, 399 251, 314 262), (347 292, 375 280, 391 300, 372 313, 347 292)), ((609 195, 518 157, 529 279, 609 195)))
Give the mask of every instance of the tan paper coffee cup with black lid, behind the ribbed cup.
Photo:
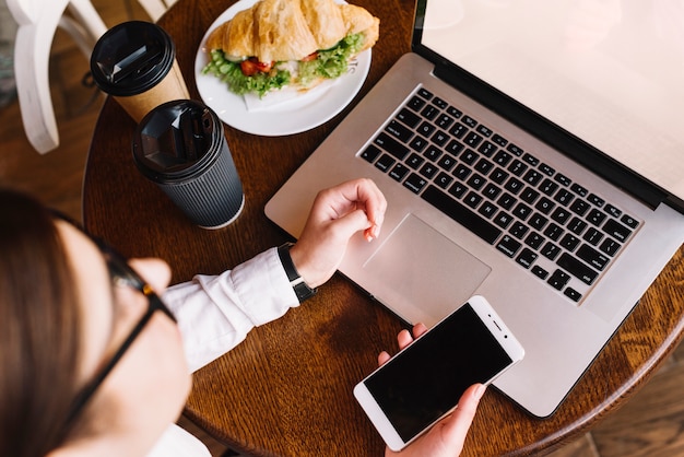
POLYGON ((174 42, 150 22, 123 22, 107 31, 93 49, 91 72, 137 122, 165 102, 190 97, 174 42))

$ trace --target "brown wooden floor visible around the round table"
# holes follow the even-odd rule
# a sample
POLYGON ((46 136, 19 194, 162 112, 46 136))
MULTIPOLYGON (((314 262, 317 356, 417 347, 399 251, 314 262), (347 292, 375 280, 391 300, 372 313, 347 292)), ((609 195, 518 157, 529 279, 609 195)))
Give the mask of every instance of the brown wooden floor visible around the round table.
MULTIPOLYGON (((146 19, 135 0, 93 3, 108 26, 146 19)), ((28 191, 76 220, 81 219, 81 183, 91 132, 103 103, 93 89, 81 84, 86 71, 87 61, 68 36, 58 34, 50 79, 61 144, 45 155, 36 153, 26 140, 16 101, 0 108, 0 185, 28 191)), ((212 455, 224 452, 193 430, 210 444, 212 455)), ((684 456, 684 344, 622 409, 551 456, 684 456)))

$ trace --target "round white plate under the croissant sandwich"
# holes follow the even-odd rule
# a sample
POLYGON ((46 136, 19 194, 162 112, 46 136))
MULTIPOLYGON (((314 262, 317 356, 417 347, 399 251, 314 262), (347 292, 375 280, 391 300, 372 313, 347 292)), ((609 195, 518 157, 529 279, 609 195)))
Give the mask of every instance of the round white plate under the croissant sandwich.
MULTIPOLYGON (((340 113, 361 90, 368 70, 370 69, 370 49, 361 52, 350 62, 346 74, 321 84, 304 94, 282 103, 269 103, 270 95, 263 97, 264 107, 255 109, 250 102, 247 108, 245 98, 234 94, 227 84, 212 74, 202 74, 202 69, 209 62, 207 38, 219 25, 231 20, 238 11, 246 10, 257 0, 240 0, 223 12, 209 27, 194 58, 194 78, 197 89, 204 104, 216 115, 238 130, 247 133, 278 137, 299 133, 320 126, 340 113)), ((280 91, 279 91, 280 92, 280 91)))

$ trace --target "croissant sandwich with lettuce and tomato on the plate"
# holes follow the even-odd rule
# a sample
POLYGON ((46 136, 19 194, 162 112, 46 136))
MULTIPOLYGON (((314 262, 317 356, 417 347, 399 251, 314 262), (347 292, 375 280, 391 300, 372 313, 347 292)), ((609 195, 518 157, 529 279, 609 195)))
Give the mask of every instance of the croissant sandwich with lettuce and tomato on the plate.
POLYGON ((203 73, 236 94, 309 90, 346 73, 349 61, 377 42, 379 24, 365 9, 334 0, 259 0, 209 35, 203 73))

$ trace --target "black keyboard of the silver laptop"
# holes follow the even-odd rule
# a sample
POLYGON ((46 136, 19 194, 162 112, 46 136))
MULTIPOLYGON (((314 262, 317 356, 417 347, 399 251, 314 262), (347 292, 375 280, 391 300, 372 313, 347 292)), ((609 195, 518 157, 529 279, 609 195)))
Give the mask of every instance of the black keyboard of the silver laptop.
POLYGON ((575 303, 640 224, 422 87, 359 156, 575 303))

